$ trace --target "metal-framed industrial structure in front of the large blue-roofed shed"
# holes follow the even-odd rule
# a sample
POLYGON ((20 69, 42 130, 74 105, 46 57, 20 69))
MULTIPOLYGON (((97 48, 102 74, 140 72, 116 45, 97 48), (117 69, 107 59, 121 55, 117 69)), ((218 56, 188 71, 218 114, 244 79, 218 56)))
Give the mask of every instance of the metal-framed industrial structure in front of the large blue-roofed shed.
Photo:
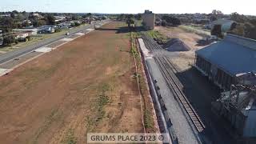
POLYGON ((226 122, 239 143, 256 143, 256 75, 242 74, 238 84, 212 102, 212 111, 226 122))

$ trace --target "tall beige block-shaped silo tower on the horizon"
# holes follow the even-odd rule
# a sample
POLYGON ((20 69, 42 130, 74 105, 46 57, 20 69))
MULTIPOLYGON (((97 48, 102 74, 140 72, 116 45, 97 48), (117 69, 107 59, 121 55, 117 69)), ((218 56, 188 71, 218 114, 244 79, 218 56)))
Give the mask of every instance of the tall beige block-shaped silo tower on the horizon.
POLYGON ((155 14, 150 10, 145 10, 142 14, 142 24, 146 30, 154 30, 155 14))

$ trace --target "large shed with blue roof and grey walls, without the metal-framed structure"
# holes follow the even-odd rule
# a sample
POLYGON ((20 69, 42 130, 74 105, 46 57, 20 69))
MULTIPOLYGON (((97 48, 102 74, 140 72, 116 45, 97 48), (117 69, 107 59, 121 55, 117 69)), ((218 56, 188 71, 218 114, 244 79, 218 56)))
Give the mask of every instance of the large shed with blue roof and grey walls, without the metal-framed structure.
POLYGON ((195 67, 223 90, 237 84, 241 74, 256 71, 256 40, 226 34, 225 38, 195 52, 195 67))

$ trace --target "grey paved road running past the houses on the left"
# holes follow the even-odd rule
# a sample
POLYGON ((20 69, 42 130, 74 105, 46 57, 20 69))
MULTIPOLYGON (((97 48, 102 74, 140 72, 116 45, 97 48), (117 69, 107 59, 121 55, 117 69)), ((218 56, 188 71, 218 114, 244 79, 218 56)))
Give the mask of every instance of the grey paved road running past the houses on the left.
MULTIPOLYGON (((94 24, 91 24, 91 25, 87 25, 87 26, 82 26, 78 29, 70 29, 70 35, 72 34, 76 34, 82 30, 86 30, 86 29, 89 29, 89 28, 94 28, 94 24)), ((21 49, 18 49, 18 50, 14 50, 14 51, 10 51, 8 53, 5 53, 5 54, 1 54, 0 55, 0 64, 3 63, 3 62, 7 62, 13 58, 16 58, 22 54, 26 54, 26 53, 29 53, 30 51, 33 51, 33 50, 36 50, 38 49, 39 47, 42 47, 42 46, 46 46, 52 42, 56 42, 62 38, 68 38, 70 36, 66 36, 66 35, 60 35, 58 37, 54 37, 54 38, 48 38, 46 40, 43 40, 42 42, 37 42, 37 43, 34 43, 34 44, 31 44, 30 46, 26 46, 24 48, 21 48, 21 49)))

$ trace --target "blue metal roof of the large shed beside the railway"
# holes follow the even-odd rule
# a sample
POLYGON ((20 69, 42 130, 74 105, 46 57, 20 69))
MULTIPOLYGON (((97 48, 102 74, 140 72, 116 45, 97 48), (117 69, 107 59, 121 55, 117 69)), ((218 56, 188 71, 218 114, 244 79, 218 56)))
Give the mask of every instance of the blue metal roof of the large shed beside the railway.
POLYGON ((232 76, 256 70, 256 40, 250 38, 227 34, 221 42, 195 53, 232 76))

